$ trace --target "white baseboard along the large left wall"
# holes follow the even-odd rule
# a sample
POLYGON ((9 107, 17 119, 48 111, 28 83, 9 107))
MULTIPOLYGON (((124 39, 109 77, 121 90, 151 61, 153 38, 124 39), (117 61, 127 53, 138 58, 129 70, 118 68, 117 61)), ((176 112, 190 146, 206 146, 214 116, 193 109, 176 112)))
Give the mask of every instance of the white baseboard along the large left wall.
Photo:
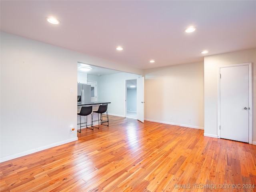
POLYGON ((42 151, 42 150, 45 150, 45 149, 49 149, 49 148, 52 148, 52 147, 56 147, 56 146, 59 146, 59 145, 62 145, 62 144, 70 143, 70 142, 76 141, 76 140, 78 140, 78 137, 71 138, 71 139, 61 141, 61 142, 57 142, 57 143, 53 143, 53 144, 50 144, 50 145, 42 146, 42 147, 35 148, 35 149, 32 149, 32 150, 24 151, 24 152, 14 154, 14 155, 10 155, 10 156, 7 156, 7 157, 3 157, 3 158, 0 159, 0 162, 5 162, 5 161, 8 161, 8 160, 12 160, 12 159, 15 159, 15 158, 18 158, 18 157, 29 155, 29 154, 32 154, 32 153, 35 153, 35 152, 38 152, 38 151, 42 151))

